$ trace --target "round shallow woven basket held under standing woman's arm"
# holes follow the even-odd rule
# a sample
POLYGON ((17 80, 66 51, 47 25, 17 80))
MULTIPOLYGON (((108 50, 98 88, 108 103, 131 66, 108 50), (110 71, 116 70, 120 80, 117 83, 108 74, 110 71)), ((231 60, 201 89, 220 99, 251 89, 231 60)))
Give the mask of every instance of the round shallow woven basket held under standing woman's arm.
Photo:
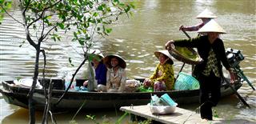
POLYGON ((178 47, 169 50, 169 53, 178 61, 185 62, 190 65, 197 65, 202 63, 202 58, 192 48, 178 47))

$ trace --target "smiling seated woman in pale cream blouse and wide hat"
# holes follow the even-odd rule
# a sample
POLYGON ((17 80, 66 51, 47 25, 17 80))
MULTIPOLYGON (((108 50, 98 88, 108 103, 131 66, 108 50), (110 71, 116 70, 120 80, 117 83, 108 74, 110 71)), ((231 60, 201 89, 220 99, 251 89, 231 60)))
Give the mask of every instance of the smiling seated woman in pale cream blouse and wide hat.
POLYGON ((107 67, 107 92, 123 92, 126 86, 126 62, 118 54, 110 54, 104 58, 107 67))

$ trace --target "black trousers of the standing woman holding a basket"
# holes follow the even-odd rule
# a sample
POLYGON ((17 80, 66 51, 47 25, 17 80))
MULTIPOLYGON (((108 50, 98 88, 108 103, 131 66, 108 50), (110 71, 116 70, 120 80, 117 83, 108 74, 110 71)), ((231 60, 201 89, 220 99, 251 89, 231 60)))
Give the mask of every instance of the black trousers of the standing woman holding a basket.
POLYGON ((200 74, 198 77, 200 83, 200 114, 201 118, 208 120, 213 119, 212 107, 217 106, 221 97, 220 86, 222 79, 214 75, 213 72, 209 76, 200 74))

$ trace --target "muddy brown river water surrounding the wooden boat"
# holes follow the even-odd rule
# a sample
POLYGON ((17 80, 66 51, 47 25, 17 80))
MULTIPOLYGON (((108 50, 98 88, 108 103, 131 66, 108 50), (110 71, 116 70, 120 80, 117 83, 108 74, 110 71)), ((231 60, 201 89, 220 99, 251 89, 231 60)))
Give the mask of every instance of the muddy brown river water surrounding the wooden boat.
MULTIPOLYGON (((241 69, 250 82, 256 87, 256 6, 254 0, 136 0, 134 16, 122 16, 111 27, 113 32, 106 38, 97 38, 95 48, 108 53, 118 53, 126 59, 128 78, 148 78, 153 73, 158 59, 154 57, 155 50, 164 49, 164 44, 170 39, 186 38, 181 25, 190 26, 200 22, 194 18, 202 10, 208 8, 218 15, 215 20, 228 34, 223 34, 226 48, 231 47, 242 51, 245 60, 240 63, 241 69)), ((18 10, 12 10, 15 18, 21 18, 18 10)), ((189 33, 195 37, 197 33, 189 33)), ((61 42, 43 42, 46 50, 48 78, 63 78, 68 71, 74 71, 82 62, 82 50, 77 42, 70 42, 72 34, 63 34, 61 42), (74 67, 69 65, 72 58, 74 67)), ((24 29, 17 22, 7 17, 0 25, 0 79, 13 80, 18 77, 31 78, 34 72, 35 50, 25 40, 24 29), (19 47, 22 45, 22 47, 19 47)), ((41 62, 42 63, 42 62, 41 62)), ((174 60, 175 74, 182 62, 174 60)), ((79 75, 83 74, 82 67, 79 75)), ((183 72, 190 73, 190 66, 185 66, 183 72)), ((78 75, 78 77, 79 77, 78 75)), ((39 76, 42 76, 41 74, 39 76)), ((80 76, 82 77, 82 76, 80 76)), ((220 118, 242 118, 256 122, 256 92, 244 82, 238 93, 245 98, 251 108, 243 106, 235 96, 222 98, 214 108, 220 118)), ((28 111, 18 106, 7 104, 0 94, 0 122, 27 123, 28 111)), ((194 110, 198 105, 183 106, 194 110)), ((87 114, 96 115, 98 122, 102 117, 115 122, 123 114, 116 110, 82 111, 75 119, 78 123, 93 123, 85 119, 87 114)), ((69 123, 74 113, 56 114, 58 123, 69 123)), ((37 113, 40 122, 42 113, 37 113)), ((125 118, 127 122, 129 118, 125 118)))

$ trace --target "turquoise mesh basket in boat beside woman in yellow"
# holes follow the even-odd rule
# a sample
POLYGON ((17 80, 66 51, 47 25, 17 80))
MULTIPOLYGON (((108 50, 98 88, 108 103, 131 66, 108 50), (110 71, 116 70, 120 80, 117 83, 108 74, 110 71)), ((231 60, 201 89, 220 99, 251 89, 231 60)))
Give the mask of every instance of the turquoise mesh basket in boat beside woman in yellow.
POLYGON ((174 90, 197 90, 199 87, 199 82, 196 78, 183 72, 178 74, 174 84, 174 90))

